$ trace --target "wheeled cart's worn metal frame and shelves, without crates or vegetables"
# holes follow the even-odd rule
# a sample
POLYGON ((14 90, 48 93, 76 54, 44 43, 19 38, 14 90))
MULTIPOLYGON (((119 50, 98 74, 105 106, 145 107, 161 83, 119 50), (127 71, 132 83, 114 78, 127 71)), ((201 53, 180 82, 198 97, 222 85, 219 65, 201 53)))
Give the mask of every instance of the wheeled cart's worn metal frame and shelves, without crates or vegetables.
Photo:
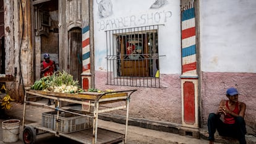
POLYGON ((96 144, 96 143, 116 143, 116 142, 127 142, 127 126, 128 126, 128 117, 129 117, 129 101, 130 96, 137 90, 125 90, 125 91, 113 91, 113 92, 106 92, 106 93, 95 93, 95 92, 82 92, 82 93, 54 93, 48 91, 38 91, 38 90, 25 90, 25 97, 24 97, 24 108, 23 108, 23 141, 25 144, 33 144, 36 140, 36 134, 38 134, 38 130, 43 130, 44 132, 54 133, 57 137, 67 137, 72 140, 75 140, 80 143, 85 144, 96 144), (93 118, 93 127, 92 129, 87 130, 80 130, 79 132, 72 132, 72 133, 61 133, 58 131, 58 122, 56 121, 56 130, 49 129, 47 127, 43 127, 40 122, 35 122, 32 124, 25 124, 25 112, 27 104, 33 104, 35 106, 43 106, 52 108, 46 104, 36 103, 33 101, 28 101, 28 94, 40 96, 42 98, 49 98, 51 100, 55 100, 55 110, 57 111, 57 120, 59 119, 59 111, 70 112, 73 114, 78 114, 80 116, 91 117, 93 118), (69 103, 76 103, 76 104, 84 104, 87 105, 89 108, 89 112, 91 112, 92 116, 88 116, 85 114, 79 114, 71 111, 67 111, 61 109, 60 102, 66 101, 69 103), (115 106, 113 108, 105 108, 99 109, 101 104, 105 103, 116 103, 119 101, 126 101, 124 105, 115 106), (117 109, 126 109, 126 127, 125 132, 117 133, 111 130, 101 129, 98 127, 98 114, 101 112, 109 112, 114 111, 117 109), (100 137, 104 137, 108 133, 108 138, 101 139, 100 137))

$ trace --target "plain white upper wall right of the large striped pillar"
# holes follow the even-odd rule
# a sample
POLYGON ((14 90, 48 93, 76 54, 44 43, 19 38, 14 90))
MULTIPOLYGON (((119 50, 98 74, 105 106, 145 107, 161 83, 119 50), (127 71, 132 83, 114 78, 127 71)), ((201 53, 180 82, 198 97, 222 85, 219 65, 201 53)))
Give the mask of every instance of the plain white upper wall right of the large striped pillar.
POLYGON ((256 1, 200 1, 203 72, 256 72, 256 1))

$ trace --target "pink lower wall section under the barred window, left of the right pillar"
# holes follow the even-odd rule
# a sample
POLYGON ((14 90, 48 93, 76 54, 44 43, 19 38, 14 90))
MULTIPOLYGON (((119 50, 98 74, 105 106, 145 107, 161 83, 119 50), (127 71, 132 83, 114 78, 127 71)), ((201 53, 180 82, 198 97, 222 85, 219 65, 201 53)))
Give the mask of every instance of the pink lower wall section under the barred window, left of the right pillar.
MULTIPOLYGON (((95 72, 95 88, 133 90, 129 116, 181 124, 181 79, 179 75, 161 75, 162 88, 105 85, 106 72, 95 72)), ((117 112, 115 112, 117 113, 117 112)), ((124 114, 122 111, 119 114, 124 114)))

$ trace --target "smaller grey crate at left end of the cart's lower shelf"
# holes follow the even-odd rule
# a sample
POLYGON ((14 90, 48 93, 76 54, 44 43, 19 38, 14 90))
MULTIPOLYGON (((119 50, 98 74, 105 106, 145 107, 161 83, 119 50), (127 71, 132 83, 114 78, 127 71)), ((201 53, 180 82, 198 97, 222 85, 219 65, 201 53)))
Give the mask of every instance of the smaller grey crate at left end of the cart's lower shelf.
POLYGON ((49 111, 49 112, 43 112, 42 113, 42 126, 47 127, 49 129, 54 128, 54 115, 56 115, 56 111, 49 111))

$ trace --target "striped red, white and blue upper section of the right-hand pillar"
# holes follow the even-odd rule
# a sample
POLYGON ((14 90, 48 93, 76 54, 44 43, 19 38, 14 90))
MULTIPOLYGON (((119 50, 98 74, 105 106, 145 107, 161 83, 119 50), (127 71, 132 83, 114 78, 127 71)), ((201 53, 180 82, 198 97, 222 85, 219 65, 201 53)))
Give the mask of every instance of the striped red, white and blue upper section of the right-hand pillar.
POLYGON ((194 1, 182 11, 182 75, 196 75, 195 9, 194 1))

